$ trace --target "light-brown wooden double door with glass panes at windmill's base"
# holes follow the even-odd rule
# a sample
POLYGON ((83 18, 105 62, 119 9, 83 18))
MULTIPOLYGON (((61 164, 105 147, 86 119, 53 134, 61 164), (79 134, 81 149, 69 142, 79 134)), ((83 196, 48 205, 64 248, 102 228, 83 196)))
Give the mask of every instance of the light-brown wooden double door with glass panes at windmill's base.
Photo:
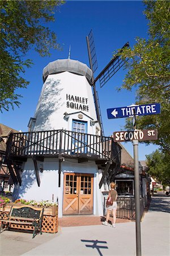
POLYGON ((92 174, 64 174, 63 214, 93 213, 93 183, 92 174))

